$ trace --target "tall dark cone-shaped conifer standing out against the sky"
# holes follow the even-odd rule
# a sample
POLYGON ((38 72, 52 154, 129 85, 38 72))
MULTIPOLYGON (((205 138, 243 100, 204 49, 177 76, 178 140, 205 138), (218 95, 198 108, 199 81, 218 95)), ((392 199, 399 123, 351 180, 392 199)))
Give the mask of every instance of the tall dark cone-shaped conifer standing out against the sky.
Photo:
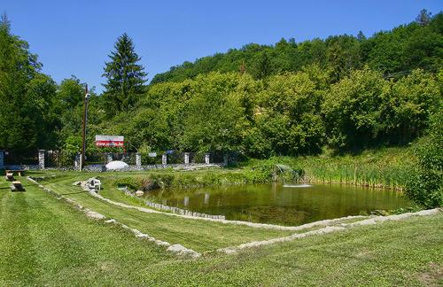
POLYGON ((104 97, 106 112, 113 115, 135 105, 137 97, 143 93, 147 74, 144 66, 138 64, 141 58, 126 33, 117 39, 109 58, 111 61, 105 63, 103 74, 107 78, 104 97))

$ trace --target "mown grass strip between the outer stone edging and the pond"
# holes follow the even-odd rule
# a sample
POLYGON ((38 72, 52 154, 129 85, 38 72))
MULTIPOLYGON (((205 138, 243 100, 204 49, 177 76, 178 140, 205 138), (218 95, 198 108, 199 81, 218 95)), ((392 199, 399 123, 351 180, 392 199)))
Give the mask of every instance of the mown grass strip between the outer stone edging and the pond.
MULTIPOLYGON (((113 218, 131 228, 139 229, 152 237, 171 244, 183 244, 197 252, 212 251, 232 244, 242 244, 254 240, 284 237, 293 233, 291 231, 255 229, 219 222, 189 220, 165 214, 143 213, 134 209, 114 206, 90 196, 88 192, 83 191, 80 187, 72 185, 72 182, 79 179, 87 179, 88 176, 90 175, 75 175, 73 173, 71 176, 65 175, 49 179, 47 182, 43 181, 43 184, 58 194, 64 195, 66 198, 73 198, 82 206, 104 214, 107 218, 113 218)), ((104 176, 102 175, 102 178, 104 176)), ((119 190, 114 190, 116 192, 110 191, 110 189, 114 188, 107 185, 106 181, 104 182, 104 190, 102 192, 113 194, 114 198, 111 198, 114 200, 131 204, 128 200, 132 198, 123 195, 119 196, 121 194, 119 190)))

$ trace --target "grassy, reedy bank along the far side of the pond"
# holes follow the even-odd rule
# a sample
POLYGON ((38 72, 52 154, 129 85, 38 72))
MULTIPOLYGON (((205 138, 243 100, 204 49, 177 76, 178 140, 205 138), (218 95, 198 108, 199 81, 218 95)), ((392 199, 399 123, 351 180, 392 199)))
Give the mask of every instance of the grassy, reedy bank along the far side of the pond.
POLYGON ((293 174, 282 176, 276 167, 283 164, 298 173, 296 180, 299 182, 346 183, 401 190, 415 160, 411 148, 385 148, 363 151, 359 155, 324 153, 313 157, 250 159, 223 170, 180 173, 171 170, 107 177, 114 185, 127 185, 133 190, 271 182, 275 180, 275 174, 280 180, 291 181, 293 174))

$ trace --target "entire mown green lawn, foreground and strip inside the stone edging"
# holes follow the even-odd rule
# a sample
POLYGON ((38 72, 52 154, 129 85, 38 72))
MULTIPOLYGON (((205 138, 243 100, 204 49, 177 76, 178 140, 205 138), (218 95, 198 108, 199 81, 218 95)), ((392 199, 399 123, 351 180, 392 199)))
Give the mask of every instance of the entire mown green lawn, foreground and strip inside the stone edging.
MULTIPOLYGON (((199 252, 286 234, 109 206, 79 193, 71 185, 75 176, 44 184, 131 228, 199 252)), ((443 283, 443 213, 183 260, 19 180, 26 192, 12 193, 0 179, 1 286, 443 283)))

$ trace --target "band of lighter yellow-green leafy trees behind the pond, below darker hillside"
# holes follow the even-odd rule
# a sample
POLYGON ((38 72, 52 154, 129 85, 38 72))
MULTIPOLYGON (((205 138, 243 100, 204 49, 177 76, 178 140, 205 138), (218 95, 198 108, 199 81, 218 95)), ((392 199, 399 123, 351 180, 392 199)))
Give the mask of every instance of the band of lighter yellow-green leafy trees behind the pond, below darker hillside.
POLYGON ((441 108, 441 79, 421 69, 400 78, 364 66, 330 84, 319 66, 254 80, 212 72, 149 87, 136 109, 98 129, 152 151, 237 151, 245 156, 359 151, 424 133, 441 108), (105 128, 106 129, 106 128, 105 128))

